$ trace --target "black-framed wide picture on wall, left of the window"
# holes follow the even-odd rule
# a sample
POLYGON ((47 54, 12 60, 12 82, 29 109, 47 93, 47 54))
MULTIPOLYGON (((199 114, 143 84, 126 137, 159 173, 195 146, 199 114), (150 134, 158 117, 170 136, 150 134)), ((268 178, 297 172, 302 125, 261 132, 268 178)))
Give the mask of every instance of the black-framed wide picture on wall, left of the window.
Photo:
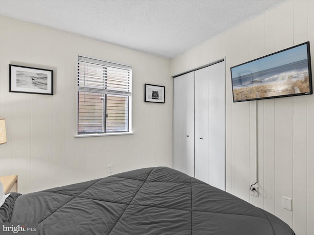
POLYGON ((9 92, 53 94, 53 71, 9 65, 9 92))

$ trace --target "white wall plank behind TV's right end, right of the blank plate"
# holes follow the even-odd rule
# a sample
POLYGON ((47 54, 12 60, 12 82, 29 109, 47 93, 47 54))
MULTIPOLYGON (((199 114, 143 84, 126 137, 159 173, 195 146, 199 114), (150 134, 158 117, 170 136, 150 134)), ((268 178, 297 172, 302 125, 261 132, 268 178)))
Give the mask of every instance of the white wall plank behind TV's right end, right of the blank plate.
MULTIPOLYGON (((307 1, 294 2, 294 44, 300 44, 309 40, 309 11, 305 9, 308 9, 307 1)), ((312 12, 310 14, 312 15, 312 12)), ((305 100, 303 97, 295 97, 293 99, 293 228, 298 231, 298 234, 307 233, 307 194, 305 192, 307 191, 307 112, 309 98, 307 97, 305 100)))

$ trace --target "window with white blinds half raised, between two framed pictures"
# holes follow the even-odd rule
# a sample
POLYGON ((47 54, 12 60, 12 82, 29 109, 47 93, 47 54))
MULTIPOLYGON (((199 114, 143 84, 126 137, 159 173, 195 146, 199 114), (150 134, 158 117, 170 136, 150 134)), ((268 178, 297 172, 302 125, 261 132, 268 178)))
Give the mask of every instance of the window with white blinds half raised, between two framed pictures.
POLYGON ((130 132, 131 66, 78 56, 78 135, 130 132))

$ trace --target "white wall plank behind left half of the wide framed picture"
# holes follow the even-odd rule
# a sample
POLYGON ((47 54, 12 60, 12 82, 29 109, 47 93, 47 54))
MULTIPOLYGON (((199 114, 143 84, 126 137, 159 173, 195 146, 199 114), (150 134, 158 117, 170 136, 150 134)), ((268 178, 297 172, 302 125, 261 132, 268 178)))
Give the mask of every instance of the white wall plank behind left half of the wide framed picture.
MULTIPOLYGON (((25 22, 21 24, 19 21, 11 21, 10 26, 16 28, 16 30, 11 30, 12 45, 16 45, 16 47, 11 47, 12 64, 15 64, 15 61, 27 61, 28 55, 31 54, 31 47, 25 47, 25 45, 31 43, 31 25, 25 22)), ((7 60, 7 58, 5 59, 7 60)), ((1 63, 1 65, 4 64, 1 63)), ((1 71, 3 72, 2 69, 1 71)), ((3 79, 0 80, 3 81, 3 79)), ((5 92, 7 92, 6 86, 5 92)), ((24 181, 22 180, 23 184, 19 184, 21 191, 31 187, 31 99, 29 94, 12 93, 12 156, 16 156, 16 158, 12 158, 12 165, 19 169, 16 174, 29 176, 24 181)), ((1 98, 0 100, 2 103, 1 98)), ((2 112, 0 113, 2 114, 2 112)))

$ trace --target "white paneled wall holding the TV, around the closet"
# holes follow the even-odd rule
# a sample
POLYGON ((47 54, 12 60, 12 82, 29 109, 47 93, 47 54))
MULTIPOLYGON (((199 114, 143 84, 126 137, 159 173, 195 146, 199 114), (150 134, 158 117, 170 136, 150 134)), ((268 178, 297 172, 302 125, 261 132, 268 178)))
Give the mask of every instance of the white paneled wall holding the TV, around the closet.
POLYGON ((310 41, 313 70, 313 12, 314 1, 284 1, 171 61, 175 75, 226 58, 226 189, 297 235, 314 231, 314 94, 233 103, 230 67, 310 41), (249 191, 256 153, 258 198, 249 191), (292 198, 292 211, 283 209, 283 196, 292 198))

